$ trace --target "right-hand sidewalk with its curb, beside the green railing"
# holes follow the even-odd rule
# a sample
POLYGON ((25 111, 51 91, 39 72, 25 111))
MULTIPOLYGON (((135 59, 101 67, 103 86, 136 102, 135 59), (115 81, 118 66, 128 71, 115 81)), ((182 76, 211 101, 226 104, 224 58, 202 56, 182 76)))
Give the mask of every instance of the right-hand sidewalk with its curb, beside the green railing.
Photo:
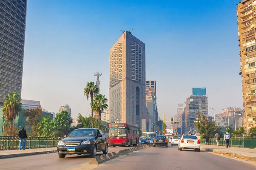
POLYGON ((240 159, 246 159, 250 161, 256 161, 256 150, 241 148, 241 147, 224 147, 216 145, 206 145, 201 144, 201 150, 206 150, 209 152, 219 153, 226 156, 231 156, 240 159))

